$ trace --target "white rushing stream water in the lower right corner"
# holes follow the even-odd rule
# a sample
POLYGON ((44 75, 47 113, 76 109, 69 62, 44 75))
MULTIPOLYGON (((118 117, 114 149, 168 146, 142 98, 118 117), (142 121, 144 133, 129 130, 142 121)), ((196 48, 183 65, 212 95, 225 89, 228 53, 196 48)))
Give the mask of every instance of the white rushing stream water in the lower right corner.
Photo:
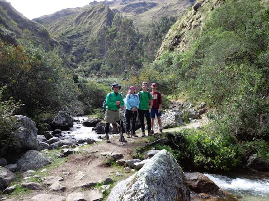
POLYGON ((230 178, 217 174, 205 174, 219 188, 227 190, 242 201, 268 201, 269 179, 230 178))

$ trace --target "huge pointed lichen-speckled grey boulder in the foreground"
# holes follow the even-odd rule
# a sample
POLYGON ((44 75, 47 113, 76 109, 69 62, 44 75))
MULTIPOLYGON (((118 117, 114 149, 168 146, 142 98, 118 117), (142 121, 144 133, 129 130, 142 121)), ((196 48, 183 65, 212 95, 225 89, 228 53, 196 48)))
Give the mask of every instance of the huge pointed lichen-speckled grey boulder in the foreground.
POLYGON ((112 189, 106 201, 115 200, 189 201, 190 191, 176 159, 161 150, 138 172, 112 189))

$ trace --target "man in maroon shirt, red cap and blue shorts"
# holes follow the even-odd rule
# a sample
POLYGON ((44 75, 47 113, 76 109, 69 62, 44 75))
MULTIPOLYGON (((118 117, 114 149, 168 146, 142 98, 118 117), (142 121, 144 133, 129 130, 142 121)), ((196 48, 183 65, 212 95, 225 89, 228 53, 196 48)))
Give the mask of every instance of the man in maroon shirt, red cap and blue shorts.
POLYGON ((161 120, 161 116, 162 116, 162 95, 160 92, 157 92, 157 84, 156 83, 152 83, 151 84, 151 95, 153 98, 153 105, 152 105, 152 109, 151 109, 151 113, 150 113, 150 117, 151 117, 151 133, 154 133, 154 120, 155 120, 155 115, 157 116, 158 119, 158 124, 159 124, 159 131, 161 134, 163 134, 163 128, 162 128, 162 120, 161 120))

